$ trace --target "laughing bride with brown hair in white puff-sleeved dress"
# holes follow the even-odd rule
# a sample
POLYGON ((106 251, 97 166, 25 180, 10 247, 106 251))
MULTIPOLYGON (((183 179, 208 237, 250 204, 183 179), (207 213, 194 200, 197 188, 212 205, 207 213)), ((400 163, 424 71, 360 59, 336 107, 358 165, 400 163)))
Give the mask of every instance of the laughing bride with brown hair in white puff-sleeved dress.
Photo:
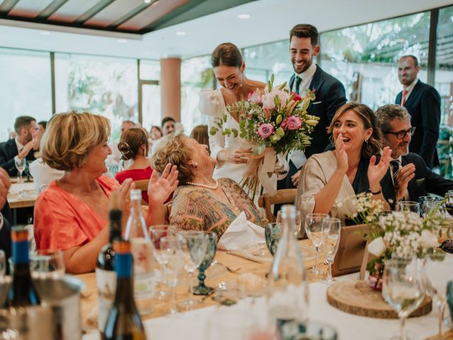
POLYGON ((227 178, 239 183, 246 171, 251 149, 248 148, 248 142, 241 137, 234 137, 233 134, 222 135, 225 128, 239 131, 238 121, 226 111, 226 106, 233 106, 238 101, 246 100, 248 94, 256 89, 263 90, 266 84, 246 78, 243 74, 246 64, 238 47, 231 42, 215 48, 212 52, 211 64, 222 88, 202 90, 199 108, 201 113, 210 116, 208 131, 212 126, 218 128, 215 118, 224 114, 227 117, 222 129, 219 129, 214 136, 210 135, 211 157, 217 159, 213 178, 227 178))

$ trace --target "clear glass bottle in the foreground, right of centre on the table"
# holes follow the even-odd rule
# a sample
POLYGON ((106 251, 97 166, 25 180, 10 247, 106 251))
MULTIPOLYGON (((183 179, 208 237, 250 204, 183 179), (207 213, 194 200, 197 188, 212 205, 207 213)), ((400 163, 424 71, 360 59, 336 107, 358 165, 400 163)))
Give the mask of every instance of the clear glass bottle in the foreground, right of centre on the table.
POLYGON ((302 252, 294 236, 294 205, 282 206, 282 236, 268 273, 268 316, 280 332, 288 321, 308 317, 308 283, 302 252))

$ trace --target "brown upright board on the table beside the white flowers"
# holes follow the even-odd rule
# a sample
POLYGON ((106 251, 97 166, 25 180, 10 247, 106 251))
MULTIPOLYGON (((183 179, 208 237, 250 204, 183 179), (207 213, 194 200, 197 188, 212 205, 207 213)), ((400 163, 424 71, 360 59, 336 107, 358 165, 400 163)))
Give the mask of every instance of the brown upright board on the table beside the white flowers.
POLYGON ((341 228, 340 244, 332 265, 333 276, 360 271, 367 246, 367 232, 367 225, 348 225, 341 228))

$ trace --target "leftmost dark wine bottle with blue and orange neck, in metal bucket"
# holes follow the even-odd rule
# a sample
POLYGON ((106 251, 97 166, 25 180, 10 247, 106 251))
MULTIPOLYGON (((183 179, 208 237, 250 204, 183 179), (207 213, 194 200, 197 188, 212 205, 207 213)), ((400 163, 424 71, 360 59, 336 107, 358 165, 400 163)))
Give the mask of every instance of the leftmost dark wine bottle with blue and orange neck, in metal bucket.
POLYGON ((11 242, 14 263, 13 282, 8 290, 4 307, 40 305, 40 296, 30 276, 28 230, 24 226, 13 227, 11 242))

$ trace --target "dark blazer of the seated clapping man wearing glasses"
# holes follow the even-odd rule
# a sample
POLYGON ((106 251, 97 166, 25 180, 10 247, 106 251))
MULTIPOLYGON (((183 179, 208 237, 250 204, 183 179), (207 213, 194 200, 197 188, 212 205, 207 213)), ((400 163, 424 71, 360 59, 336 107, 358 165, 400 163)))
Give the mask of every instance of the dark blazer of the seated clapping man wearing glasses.
POLYGON ((445 196, 447 191, 453 190, 453 181, 432 172, 418 154, 409 152, 406 156, 401 157, 403 166, 409 163, 415 165, 415 177, 408 183, 408 193, 411 200, 417 202, 420 196, 428 196, 428 193, 445 196))

